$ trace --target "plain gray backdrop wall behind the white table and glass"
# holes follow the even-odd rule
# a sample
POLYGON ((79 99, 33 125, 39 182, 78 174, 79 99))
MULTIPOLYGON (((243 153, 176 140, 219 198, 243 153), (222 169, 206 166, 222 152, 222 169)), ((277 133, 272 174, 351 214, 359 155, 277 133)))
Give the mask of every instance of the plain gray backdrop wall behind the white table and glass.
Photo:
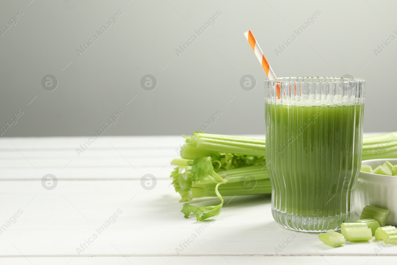
POLYGON ((0 125, 24 112, 1 137, 92 135, 118 109, 106 135, 191 134, 218 109, 206 132, 264 133, 266 75, 243 35, 248 29, 278 77, 366 79, 364 131, 391 131, 397 40, 378 56, 374 49, 397 37, 396 7, 391 0, 1 1, 1 26, 24 13, 0 37, 0 125), (79 57, 76 49, 118 10, 116 25, 79 57), (178 57, 175 49, 217 10, 216 23, 178 57), (297 36, 316 10, 321 15, 297 36), (297 39, 276 56, 292 34, 297 39), (58 79, 53 91, 41 85, 47 74, 58 79), (146 74, 156 89, 141 87, 146 74), (245 74, 256 79, 251 91, 240 87, 245 74))

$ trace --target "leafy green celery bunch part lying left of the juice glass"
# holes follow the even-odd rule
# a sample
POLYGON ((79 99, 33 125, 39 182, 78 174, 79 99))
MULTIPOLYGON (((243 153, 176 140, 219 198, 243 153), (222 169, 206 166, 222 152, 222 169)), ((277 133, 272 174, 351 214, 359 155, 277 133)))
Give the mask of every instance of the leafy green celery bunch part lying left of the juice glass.
POLYGON ((184 136, 181 159, 171 174, 175 191, 181 201, 217 196, 221 202, 212 206, 193 206, 185 203, 182 213, 196 215, 197 221, 219 215, 223 197, 272 193, 266 169, 264 139, 216 135, 195 132, 184 136))

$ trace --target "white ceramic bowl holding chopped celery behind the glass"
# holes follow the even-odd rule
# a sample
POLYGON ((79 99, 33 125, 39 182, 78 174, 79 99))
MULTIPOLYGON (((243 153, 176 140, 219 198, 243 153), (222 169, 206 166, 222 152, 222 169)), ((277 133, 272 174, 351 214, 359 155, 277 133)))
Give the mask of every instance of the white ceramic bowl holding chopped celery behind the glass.
MULTIPOLYGON (((370 159, 362 161, 372 169, 389 161, 397 164, 397 159, 370 159)), ((385 176, 360 171, 355 186, 354 209, 358 216, 366 205, 372 205, 391 211, 386 224, 397 225, 397 176, 385 176)))

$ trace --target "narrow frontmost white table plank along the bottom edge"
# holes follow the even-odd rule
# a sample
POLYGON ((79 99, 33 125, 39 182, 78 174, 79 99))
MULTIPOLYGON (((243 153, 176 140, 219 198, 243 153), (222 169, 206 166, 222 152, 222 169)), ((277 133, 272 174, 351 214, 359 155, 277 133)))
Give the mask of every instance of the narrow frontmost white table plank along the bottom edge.
POLYGON ((13 265, 109 265, 109 264, 145 264, 145 265, 185 265, 185 264, 213 264, 213 265, 378 265, 395 264, 395 257, 357 257, 357 256, 308 256, 308 257, 250 257, 250 256, 189 256, 189 257, 8 257, 0 258, 2 264, 13 265))

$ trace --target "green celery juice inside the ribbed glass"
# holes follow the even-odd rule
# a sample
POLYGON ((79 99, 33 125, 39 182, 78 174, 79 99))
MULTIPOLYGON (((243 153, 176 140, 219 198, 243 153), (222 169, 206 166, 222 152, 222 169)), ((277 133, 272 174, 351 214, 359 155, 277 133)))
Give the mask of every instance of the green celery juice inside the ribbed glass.
POLYGON ((312 222, 350 221, 361 166, 363 108, 348 101, 266 103, 266 160, 271 161, 276 221, 293 227, 294 216, 300 216, 304 230, 311 230, 312 222))

